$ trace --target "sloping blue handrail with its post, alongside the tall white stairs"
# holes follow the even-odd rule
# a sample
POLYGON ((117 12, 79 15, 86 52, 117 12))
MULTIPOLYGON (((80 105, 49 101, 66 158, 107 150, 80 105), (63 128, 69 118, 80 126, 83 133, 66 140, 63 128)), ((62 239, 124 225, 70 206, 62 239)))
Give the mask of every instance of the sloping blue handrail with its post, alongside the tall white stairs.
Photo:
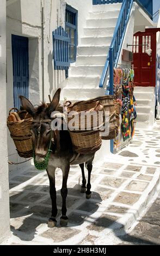
POLYGON ((118 62, 122 43, 124 41, 124 36, 127 28, 127 23, 130 17, 132 4, 134 0, 124 0, 122 2, 120 14, 118 17, 118 21, 116 23, 114 35, 112 42, 110 44, 108 56, 106 59, 106 63, 104 65, 104 69, 102 72, 102 77, 100 80, 99 87, 103 87, 104 81, 106 80, 108 68, 109 68, 109 94, 113 95, 113 69, 116 67, 116 63, 118 62))

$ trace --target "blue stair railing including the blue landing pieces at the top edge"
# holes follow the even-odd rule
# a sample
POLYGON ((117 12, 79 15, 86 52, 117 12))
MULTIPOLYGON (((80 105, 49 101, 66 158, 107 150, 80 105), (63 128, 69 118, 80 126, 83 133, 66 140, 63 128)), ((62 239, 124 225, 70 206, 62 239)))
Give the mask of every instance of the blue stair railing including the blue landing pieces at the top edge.
POLYGON ((104 82, 106 81, 108 69, 109 69, 109 84, 108 90, 106 90, 106 94, 113 94, 113 69, 116 68, 116 63, 118 62, 122 43, 124 41, 124 36, 127 28, 127 23, 130 18, 130 13, 132 9, 133 2, 137 2, 141 8, 146 11, 146 13, 152 19, 152 7, 153 1, 152 0, 93 0, 93 5, 96 4, 112 4, 112 3, 122 3, 120 14, 118 17, 118 21, 116 23, 114 35, 112 42, 110 44, 108 56, 106 59, 106 63, 103 68, 100 85, 99 87, 103 87, 104 82), (149 2, 149 3, 148 3, 149 2))

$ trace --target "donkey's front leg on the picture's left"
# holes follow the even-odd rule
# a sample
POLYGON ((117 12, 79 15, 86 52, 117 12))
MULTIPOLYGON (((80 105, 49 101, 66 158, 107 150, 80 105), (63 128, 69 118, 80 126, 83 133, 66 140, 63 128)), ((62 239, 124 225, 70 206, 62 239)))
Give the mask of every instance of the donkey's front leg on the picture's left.
POLYGON ((48 166, 47 167, 47 174, 50 180, 50 197, 52 200, 52 214, 51 218, 48 220, 48 227, 53 228, 56 227, 57 221, 57 203, 56 203, 56 187, 55 187, 55 170, 56 168, 48 166))

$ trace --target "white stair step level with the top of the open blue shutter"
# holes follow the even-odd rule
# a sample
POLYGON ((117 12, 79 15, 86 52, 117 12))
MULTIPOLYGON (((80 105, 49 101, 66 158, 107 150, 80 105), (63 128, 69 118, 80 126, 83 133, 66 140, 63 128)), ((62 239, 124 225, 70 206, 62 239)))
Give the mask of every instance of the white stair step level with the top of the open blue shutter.
POLYGON ((84 28, 85 36, 113 36, 115 27, 110 28, 84 28))

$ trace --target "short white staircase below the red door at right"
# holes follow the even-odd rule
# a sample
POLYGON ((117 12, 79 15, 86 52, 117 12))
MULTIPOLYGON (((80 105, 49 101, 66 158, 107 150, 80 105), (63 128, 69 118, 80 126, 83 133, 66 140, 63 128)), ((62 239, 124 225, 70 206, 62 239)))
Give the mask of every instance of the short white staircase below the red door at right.
POLYGON ((155 120, 155 87, 135 87, 138 129, 151 129, 155 120))

